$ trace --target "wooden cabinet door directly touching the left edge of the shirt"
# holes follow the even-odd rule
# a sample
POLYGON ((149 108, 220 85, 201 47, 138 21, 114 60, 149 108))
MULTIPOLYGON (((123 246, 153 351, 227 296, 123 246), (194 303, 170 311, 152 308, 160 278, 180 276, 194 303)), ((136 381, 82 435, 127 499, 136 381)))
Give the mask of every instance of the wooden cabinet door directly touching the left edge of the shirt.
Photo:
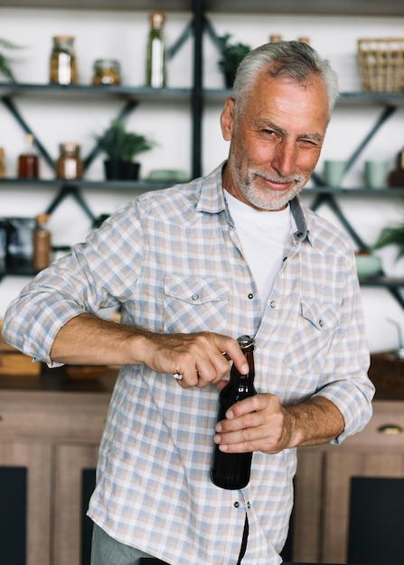
POLYGON ((84 482, 94 473, 98 445, 60 445, 55 458, 53 565, 87 565, 84 482), (84 536, 85 537, 85 536, 84 536))

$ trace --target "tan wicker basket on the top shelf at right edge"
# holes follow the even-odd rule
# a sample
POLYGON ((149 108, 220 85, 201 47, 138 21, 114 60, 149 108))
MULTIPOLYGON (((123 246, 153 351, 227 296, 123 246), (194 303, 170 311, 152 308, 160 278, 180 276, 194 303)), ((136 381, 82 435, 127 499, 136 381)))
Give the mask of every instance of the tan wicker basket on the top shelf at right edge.
POLYGON ((403 92, 404 39, 360 39, 358 59, 365 92, 403 92))

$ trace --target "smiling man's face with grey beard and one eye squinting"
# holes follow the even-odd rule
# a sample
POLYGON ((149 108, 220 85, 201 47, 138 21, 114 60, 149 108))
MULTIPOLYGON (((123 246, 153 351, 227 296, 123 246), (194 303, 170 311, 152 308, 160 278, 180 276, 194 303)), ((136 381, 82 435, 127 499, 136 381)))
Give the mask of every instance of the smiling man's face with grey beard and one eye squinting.
POLYGON ((228 98, 221 131, 230 141, 223 186, 257 209, 279 210, 302 190, 315 169, 328 123, 321 79, 305 85, 258 75, 238 123, 228 98))

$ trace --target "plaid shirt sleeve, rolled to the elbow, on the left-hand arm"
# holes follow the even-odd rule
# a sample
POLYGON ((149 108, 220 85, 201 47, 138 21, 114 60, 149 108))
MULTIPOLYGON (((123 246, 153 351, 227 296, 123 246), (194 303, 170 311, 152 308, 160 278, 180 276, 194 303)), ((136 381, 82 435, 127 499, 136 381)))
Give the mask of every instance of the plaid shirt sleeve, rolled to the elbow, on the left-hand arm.
POLYGON ((5 312, 8 343, 35 361, 60 366, 50 354, 61 327, 80 313, 98 315, 125 300, 136 283, 142 235, 136 215, 124 210, 23 288, 5 312))

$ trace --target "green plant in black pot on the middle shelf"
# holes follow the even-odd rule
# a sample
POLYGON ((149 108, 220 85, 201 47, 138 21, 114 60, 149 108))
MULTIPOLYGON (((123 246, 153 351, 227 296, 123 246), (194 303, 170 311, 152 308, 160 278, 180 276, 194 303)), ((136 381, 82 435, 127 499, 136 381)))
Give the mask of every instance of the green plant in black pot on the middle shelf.
POLYGON ((154 145, 145 135, 127 132, 119 120, 113 120, 108 129, 96 135, 95 139, 99 149, 108 156, 104 162, 107 179, 136 180, 140 163, 134 162, 134 158, 154 145))

